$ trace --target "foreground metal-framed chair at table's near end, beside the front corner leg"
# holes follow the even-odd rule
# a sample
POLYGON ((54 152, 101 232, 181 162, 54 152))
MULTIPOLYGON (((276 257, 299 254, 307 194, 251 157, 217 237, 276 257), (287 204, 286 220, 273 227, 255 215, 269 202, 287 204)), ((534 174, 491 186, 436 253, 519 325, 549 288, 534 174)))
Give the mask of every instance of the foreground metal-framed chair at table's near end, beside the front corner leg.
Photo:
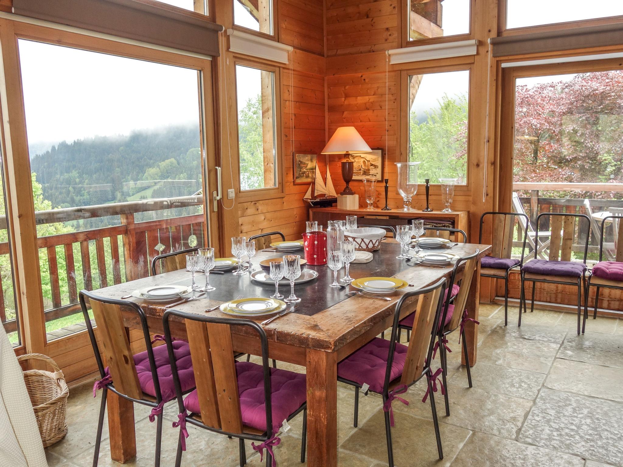
POLYGON ((262 326, 249 319, 212 318, 169 309, 163 315, 164 341, 173 355, 169 323, 183 319, 193 359, 197 389, 186 398, 181 387, 178 367, 171 370, 178 400, 178 451, 175 465, 179 467, 186 450, 186 423, 239 439, 240 467, 247 459, 244 440, 259 441, 252 447, 260 455, 266 453, 266 466, 273 462, 272 446, 283 420, 291 420, 303 411, 301 462, 305 461, 307 438, 306 376, 269 367, 269 344, 262 326), (262 364, 234 360, 231 326, 244 326, 255 331, 260 339, 262 364), (278 383, 278 384, 277 384, 278 383))

